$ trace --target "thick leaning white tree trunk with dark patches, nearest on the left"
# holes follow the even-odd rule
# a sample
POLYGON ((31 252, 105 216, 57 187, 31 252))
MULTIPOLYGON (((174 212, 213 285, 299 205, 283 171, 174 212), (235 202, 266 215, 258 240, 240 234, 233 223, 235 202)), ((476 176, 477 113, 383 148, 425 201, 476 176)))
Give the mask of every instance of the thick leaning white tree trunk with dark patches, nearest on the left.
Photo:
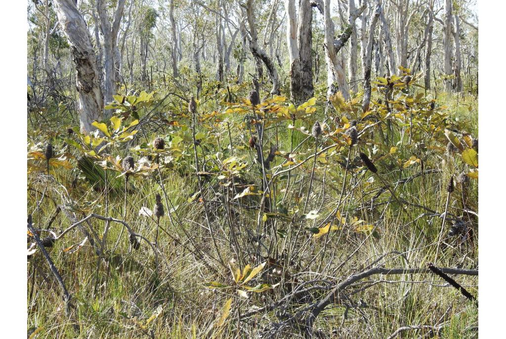
POLYGON ((56 14, 69 40, 77 71, 80 129, 82 133, 91 132, 95 130, 92 123, 101 120, 104 102, 90 33, 73 0, 55 0, 55 3, 56 14))

